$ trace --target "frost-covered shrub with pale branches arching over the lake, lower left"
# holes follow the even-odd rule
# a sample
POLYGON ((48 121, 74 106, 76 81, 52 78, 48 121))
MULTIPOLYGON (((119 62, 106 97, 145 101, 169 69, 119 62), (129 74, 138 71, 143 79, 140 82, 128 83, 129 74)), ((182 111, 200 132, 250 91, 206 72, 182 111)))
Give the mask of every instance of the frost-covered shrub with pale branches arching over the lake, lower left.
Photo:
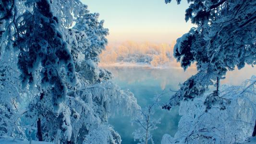
POLYGON ((64 143, 66 138, 63 136, 71 136, 72 143, 80 144, 89 132, 96 131, 102 124, 106 125, 108 118, 116 112, 134 115, 140 109, 131 92, 121 90, 109 81, 82 85, 81 89, 70 91, 67 95, 60 105, 62 112, 59 115, 48 105, 51 101, 48 97, 39 100, 40 96, 37 96, 38 100, 35 99, 35 103, 29 106, 26 116, 35 122, 37 117, 41 119, 44 141, 64 143))

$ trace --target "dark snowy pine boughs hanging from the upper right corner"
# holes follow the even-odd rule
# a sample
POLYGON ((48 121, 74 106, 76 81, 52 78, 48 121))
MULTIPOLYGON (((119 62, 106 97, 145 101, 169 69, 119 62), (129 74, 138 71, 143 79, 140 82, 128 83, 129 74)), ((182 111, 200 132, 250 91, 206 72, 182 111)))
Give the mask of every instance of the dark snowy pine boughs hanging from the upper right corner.
POLYGON ((197 27, 177 39, 174 57, 184 70, 196 62, 198 73, 181 84, 180 90, 163 108, 170 109, 182 100, 194 99, 215 82, 217 89, 211 96, 218 96, 219 80, 225 78, 228 70, 256 64, 255 0, 187 1, 190 6, 185 20, 190 19, 197 27))

